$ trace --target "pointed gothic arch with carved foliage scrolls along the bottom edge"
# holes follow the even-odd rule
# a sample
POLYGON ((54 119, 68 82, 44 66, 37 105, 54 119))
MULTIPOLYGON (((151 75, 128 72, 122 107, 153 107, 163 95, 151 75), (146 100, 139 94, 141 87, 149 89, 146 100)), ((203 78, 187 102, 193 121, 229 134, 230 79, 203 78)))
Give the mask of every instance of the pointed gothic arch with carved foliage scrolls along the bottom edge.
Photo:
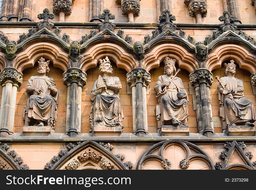
MULTIPOLYGON (((56 157, 56 156, 55 156, 56 157)), ((47 163, 48 164, 48 163, 47 163)), ((49 165, 49 164, 48 164, 49 165)), ((50 169, 127 169, 111 151, 94 141, 85 141, 63 155, 50 169)))

